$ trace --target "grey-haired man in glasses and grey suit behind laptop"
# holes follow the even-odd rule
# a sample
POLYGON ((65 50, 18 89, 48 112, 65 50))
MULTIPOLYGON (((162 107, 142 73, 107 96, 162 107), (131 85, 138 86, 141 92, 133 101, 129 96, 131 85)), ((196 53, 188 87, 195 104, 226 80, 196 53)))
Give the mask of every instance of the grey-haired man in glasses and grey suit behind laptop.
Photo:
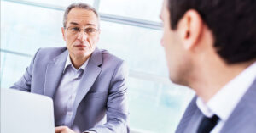
POLYGON ((39 49, 12 88, 53 98, 55 133, 129 132, 124 62, 96 47, 96 10, 73 3, 61 30, 67 47, 39 49))

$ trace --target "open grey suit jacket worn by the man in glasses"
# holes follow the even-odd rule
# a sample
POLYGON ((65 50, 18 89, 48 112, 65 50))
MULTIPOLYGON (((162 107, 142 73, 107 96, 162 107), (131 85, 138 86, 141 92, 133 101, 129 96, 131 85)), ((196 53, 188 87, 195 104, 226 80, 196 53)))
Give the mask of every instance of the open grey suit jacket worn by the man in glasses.
MULTIPOLYGON (((66 47, 39 49, 25 74, 11 88, 54 97, 67 55, 66 47)), ((79 83, 73 125, 67 126, 98 133, 129 132, 125 70, 123 60, 96 48, 79 83)))

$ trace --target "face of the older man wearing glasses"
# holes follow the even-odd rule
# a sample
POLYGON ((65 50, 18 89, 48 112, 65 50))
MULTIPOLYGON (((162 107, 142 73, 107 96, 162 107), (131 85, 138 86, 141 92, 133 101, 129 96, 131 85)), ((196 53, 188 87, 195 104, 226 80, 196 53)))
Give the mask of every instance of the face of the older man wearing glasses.
POLYGON ((73 58, 84 58, 93 53, 99 41, 98 23, 96 14, 90 10, 73 8, 67 14, 66 29, 62 28, 62 33, 73 58))

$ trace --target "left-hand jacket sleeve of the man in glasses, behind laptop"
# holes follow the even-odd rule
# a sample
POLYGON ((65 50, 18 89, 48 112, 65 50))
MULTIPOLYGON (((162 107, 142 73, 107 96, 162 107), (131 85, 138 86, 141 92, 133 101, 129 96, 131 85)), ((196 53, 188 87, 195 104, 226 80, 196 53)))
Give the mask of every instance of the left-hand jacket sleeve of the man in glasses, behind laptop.
POLYGON ((15 82, 15 84, 13 86, 11 86, 10 88, 20 90, 20 91, 28 91, 28 92, 31 91, 33 65, 34 65, 35 59, 37 57, 37 54, 38 54, 38 52, 33 57, 31 64, 26 68, 25 74, 22 75, 20 80, 15 82))

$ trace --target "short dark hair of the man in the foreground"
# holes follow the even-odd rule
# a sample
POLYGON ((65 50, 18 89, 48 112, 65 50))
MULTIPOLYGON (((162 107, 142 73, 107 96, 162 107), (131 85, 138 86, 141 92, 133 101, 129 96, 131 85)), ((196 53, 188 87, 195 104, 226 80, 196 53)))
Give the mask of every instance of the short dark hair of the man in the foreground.
POLYGON ((256 58, 255 0, 168 0, 172 30, 195 9, 212 30, 214 47, 228 64, 256 58))

